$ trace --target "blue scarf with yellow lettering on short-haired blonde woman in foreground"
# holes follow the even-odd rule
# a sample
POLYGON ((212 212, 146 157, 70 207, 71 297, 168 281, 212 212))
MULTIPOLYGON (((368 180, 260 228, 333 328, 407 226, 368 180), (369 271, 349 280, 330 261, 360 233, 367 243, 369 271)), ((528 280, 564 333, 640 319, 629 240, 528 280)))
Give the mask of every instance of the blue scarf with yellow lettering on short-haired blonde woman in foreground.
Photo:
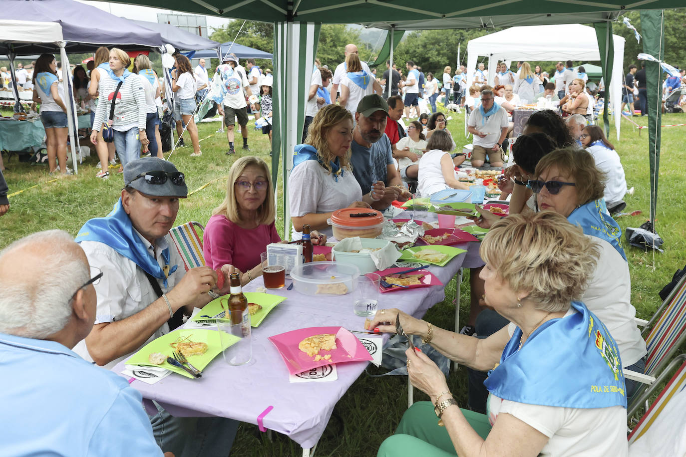
POLYGON ((502 399, 560 408, 626 408, 619 349, 605 325, 580 301, 563 319, 534 330, 519 349, 514 330, 484 385, 502 399))

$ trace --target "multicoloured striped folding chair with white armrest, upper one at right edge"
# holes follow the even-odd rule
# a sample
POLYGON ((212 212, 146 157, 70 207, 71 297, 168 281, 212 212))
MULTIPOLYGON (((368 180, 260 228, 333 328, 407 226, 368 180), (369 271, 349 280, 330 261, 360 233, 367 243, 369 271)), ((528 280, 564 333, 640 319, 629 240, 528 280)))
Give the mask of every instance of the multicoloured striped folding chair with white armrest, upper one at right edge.
MULTIPOLYGON (((641 325, 644 321, 637 319, 641 325)), ((674 286, 672 293, 663 301, 660 308, 653 314, 650 321, 645 323, 643 338, 646 340, 648 355, 646 356, 645 374, 624 370, 624 376, 631 380, 643 382, 646 386, 639 388, 634 399, 629 404, 629 410, 634 410, 639 404, 639 398, 650 384, 654 384, 655 376, 664 370, 667 363, 679 347, 686 341, 686 275, 674 286)))

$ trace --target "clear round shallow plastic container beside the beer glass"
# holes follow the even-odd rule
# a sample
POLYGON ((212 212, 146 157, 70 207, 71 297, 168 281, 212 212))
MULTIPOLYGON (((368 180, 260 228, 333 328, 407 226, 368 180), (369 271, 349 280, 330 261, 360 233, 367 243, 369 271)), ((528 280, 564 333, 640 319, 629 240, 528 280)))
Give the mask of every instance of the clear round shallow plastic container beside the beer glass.
POLYGON ((310 262, 291 270, 293 288, 305 295, 334 297, 355 289, 359 269, 355 265, 338 262, 310 262))

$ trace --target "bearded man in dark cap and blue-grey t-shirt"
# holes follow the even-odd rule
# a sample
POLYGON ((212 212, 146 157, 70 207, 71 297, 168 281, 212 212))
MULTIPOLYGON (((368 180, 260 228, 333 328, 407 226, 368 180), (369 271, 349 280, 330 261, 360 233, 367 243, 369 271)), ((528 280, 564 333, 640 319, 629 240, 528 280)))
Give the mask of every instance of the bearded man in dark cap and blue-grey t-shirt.
POLYGON ((392 147, 383 131, 388 121, 388 103, 381 95, 363 97, 355 112, 355 129, 351 143, 353 175, 362 188, 362 195, 372 193, 372 186, 381 182, 385 186, 383 203, 390 205, 394 200, 405 201, 412 197, 403 186, 393 162, 392 147))

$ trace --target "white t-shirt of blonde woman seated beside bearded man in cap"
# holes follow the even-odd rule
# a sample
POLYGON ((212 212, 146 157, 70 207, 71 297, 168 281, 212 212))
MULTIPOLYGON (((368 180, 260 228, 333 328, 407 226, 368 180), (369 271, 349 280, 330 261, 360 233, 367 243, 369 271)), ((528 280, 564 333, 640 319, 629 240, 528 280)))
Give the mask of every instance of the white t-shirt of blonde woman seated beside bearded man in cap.
MULTIPOLYGON (((362 188, 359 187, 353 172, 343 170, 338 182, 331 173, 316 160, 294 166, 288 178, 288 199, 292 217, 302 217, 307 213, 324 213, 347 208, 353 201, 362 200, 362 188)), ((331 228, 320 230, 322 234, 333 236, 331 228)), ((294 240, 302 238, 300 232, 292 230, 294 240)))

